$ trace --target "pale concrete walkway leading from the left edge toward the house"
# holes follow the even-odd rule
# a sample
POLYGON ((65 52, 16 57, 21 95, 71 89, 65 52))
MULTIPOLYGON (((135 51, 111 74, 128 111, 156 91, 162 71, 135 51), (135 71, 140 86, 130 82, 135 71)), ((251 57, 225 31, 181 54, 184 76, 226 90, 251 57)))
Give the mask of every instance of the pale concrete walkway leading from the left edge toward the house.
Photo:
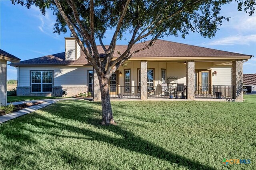
MULTIPOLYGON (((13 102, 12 103, 13 105, 19 105, 19 104, 23 104, 25 102, 44 102, 44 103, 26 107, 25 109, 21 109, 19 111, 16 111, 16 112, 13 112, 10 114, 2 115, 2 116, 0 116, 0 123, 4 123, 4 122, 14 119, 16 117, 20 117, 22 115, 26 115, 26 114, 36 111, 38 109, 42 109, 46 106, 49 106, 50 104, 54 104, 55 102, 60 101, 60 100, 86 100, 86 99, 79 99, 79 98, 62 98, 62 99, 60 99, 59 98, 59 99, 30 100, 30 101, 13 102)), ((10 103, 7 103, 7 105, 9 105, 9 104, 10 103)))

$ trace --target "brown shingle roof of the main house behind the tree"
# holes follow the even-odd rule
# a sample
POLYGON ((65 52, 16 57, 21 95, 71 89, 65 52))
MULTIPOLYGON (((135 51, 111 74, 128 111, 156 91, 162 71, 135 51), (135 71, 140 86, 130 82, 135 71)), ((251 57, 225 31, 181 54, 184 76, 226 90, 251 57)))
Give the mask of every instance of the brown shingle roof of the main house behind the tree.
MULTIPOLYGON (((132 48, 132 51, 141 49, 148 41, 144 43, 137 43, 132 48)), ((101 57, 104 57, 104 51, 100 45, 97 46, 101 57)), ((108 48, 108 46, 106 46, 108 48)), ((116 45, 116 50, 113 57, 119 57, 118 51, 123 53, 127 48, 127 45, 116 45)), ((187 45, 182 43, 175 43, 165 40, 157 40, 156 43, 149 49, 135 53, 132 57, 238 57, 238 56, 250 56, 239 53, 232 53, 228 51, 221 51, 216 49, 209 49, 205 47, 198 47, 194 45, 187 45)), ((65 53, 58 53, 54 55, 47 55, 35 59, 21 61, 18 64, 10 65, 85 65, 88 61, 85 59, 84 53, 81 51, 81 57, 78 60, 65 60, 65 53)))

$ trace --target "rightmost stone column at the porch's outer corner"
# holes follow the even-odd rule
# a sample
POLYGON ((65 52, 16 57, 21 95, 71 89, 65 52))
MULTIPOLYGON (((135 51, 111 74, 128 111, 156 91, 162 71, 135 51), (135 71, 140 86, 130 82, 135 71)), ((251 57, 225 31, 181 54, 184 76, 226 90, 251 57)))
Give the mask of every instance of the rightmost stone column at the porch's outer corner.
POLYGON ((232 62, 232 85, 234 86, 234 99, 243 100, 243 60, 232 62))

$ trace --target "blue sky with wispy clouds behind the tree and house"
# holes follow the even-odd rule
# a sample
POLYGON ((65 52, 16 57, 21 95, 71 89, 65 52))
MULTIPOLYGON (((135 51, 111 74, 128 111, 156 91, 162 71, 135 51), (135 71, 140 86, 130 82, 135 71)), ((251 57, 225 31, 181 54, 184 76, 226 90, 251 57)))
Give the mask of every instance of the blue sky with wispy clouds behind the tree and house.
MULTIPOLYGON (((212 39, 203 38, 198 33, 190 33, 186 39, 172 36, 164 39, 254 55, 244 63, 244 73, 256 73, 256 15, 238 12, 234 2, 223 6, 221 14, 229 16, 230 21, 224 21, 212 39)), ((60 35, 52 33, 55 20, 51 11, 43 16, 36 7, 28 10, 24 6, 12 5, 11 1, 0 1, 0 48, 22 60, 64 52, 64 37, 69 37, 70 32, 60 35)), ((103 41, 105 44, 110 42, 112 33, 113 31, 106 33, 103 41)), ((124 36, 129 37, 130 34, 124 36)), ((117 44, 127 43, 118 41, 117 44)), ((17 79, 16 68, 8 66, 7 79, 17 79)))

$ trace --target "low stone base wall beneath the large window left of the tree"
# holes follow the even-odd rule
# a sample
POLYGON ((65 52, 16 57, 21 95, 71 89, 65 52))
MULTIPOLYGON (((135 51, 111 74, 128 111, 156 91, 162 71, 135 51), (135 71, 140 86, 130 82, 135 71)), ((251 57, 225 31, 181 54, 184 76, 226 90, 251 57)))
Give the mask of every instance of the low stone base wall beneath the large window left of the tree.
POLYGON ((64 89, 68 92, 65 97, 72 97, 87 92, 88 86, 52 86, 52 92, 49 93, 32 93, 30 86, 24 86, 17 87, 17 96, 60 96, 61 91, 64 89))

